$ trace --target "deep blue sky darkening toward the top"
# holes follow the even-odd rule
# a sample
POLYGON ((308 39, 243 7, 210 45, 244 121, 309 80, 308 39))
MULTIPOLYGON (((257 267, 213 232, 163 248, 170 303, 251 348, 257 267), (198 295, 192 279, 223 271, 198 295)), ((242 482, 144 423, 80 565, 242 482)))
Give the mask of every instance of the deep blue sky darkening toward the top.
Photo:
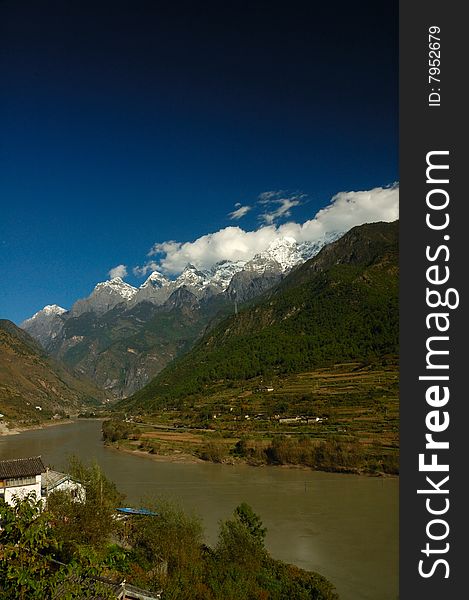
POLYGON ((0 2, 0 318, 261 192, 301 222, 398 179, 397 2, 226 4, 0 2))

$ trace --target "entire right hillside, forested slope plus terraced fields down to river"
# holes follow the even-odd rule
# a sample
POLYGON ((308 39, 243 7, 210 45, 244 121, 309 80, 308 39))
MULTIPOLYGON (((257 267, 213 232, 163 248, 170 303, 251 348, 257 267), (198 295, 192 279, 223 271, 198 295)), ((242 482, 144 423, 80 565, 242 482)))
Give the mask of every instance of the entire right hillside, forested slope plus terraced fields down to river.
POLYGON ((119 402, 124 446, 397 473, 398 320, 398 223, 355 227, 119 402))

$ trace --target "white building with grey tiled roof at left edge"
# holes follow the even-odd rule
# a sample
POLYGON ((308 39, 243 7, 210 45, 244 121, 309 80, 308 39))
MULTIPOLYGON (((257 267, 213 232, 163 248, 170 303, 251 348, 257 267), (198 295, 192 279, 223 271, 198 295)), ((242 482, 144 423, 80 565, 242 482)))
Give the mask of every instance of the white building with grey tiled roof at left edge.
POLYGON ((13 505, 13 496, 34 492, 41 497, 41 474, 45 471, 40 456, 0 461, 0 498, 13 505))

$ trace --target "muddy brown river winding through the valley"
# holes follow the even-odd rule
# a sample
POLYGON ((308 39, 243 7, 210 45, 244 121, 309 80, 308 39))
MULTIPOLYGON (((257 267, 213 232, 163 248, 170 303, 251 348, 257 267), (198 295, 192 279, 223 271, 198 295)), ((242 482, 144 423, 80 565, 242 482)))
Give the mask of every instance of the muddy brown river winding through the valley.
POLYGON ((64 469, 70 454, 96 459, 129 505, 149 496, 178 499, 202 517, 209 544, 220 519, 248 502, 268 529, 275 558, 325 575, 341 600, 398 598, 397 478, 160 462, 104 447, 95 420, 0 436, 0 459, 41 455, 64 469))

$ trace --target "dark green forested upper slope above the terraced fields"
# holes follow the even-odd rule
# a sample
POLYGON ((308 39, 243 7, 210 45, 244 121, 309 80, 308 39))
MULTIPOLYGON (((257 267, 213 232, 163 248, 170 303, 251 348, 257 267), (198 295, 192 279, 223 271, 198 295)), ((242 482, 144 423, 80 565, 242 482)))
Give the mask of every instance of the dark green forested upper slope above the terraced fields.
POLYGON ((220 383, 397 353, 398 223, 367 224, 223 320, 119 407, 151 412, 220 383))

